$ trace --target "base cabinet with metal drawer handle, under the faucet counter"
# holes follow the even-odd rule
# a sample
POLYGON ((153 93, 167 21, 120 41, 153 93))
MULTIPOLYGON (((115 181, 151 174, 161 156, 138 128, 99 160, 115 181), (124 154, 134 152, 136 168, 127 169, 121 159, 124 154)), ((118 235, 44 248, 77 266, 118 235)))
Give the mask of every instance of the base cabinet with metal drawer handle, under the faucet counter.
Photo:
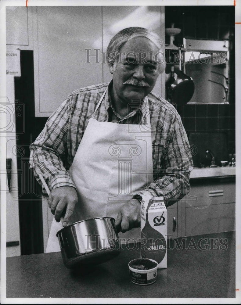
POLYGON ((178 236, 235 230, 235 183, 191 186, 178 205, 178 236))

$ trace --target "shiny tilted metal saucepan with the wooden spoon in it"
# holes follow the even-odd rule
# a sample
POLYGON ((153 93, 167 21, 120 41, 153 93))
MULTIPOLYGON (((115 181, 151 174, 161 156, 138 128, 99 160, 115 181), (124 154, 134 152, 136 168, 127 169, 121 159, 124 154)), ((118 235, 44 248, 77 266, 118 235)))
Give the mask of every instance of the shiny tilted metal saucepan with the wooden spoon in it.
MULTIPOLYGON (((39 176, 49 195, 50 190, 44 178, 39 176)), ((56 236, 63 263, 70 269, 100 264, 120 254, 119 237, 112 217, 75 222, 59 230, 56 236)))

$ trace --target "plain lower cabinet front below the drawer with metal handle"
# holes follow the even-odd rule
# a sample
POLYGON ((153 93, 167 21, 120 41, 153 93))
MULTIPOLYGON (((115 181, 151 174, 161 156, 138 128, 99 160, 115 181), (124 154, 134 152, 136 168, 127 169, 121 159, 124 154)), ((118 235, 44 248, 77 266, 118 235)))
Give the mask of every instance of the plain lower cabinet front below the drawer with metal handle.
POLYGON ((186 207, 185 235, 235 230, 235 203, 186 207))

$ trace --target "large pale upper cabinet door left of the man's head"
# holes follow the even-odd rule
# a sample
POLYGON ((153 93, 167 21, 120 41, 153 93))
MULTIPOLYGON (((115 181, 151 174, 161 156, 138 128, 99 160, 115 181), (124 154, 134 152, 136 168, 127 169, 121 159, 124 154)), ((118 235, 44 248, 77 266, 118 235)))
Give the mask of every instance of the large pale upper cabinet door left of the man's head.
POLYGON ((38 6, 33 15, 35 115, 49 117, 72 91, 103 82, 101 6, 38 6))

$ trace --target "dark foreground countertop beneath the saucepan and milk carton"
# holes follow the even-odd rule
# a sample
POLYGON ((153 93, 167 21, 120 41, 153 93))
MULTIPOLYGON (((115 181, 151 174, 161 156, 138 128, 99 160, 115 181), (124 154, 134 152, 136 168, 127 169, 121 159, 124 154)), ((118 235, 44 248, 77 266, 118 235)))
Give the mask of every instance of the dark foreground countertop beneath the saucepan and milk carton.
POLYGON ((235 297, 235 231, 170 239, 167 268, 158 269, 156 282, 146 286, 130 281, 128 262, 140 254, 138 244, 129 245, 133 250, 127 247, 122 246, 120 255, 114 259, 97 265, 88 272, 79 273, 63 265, 60 252, 9 257, 6 296, 235 297), (205 250, 205 247, 208 249, 205 250))

